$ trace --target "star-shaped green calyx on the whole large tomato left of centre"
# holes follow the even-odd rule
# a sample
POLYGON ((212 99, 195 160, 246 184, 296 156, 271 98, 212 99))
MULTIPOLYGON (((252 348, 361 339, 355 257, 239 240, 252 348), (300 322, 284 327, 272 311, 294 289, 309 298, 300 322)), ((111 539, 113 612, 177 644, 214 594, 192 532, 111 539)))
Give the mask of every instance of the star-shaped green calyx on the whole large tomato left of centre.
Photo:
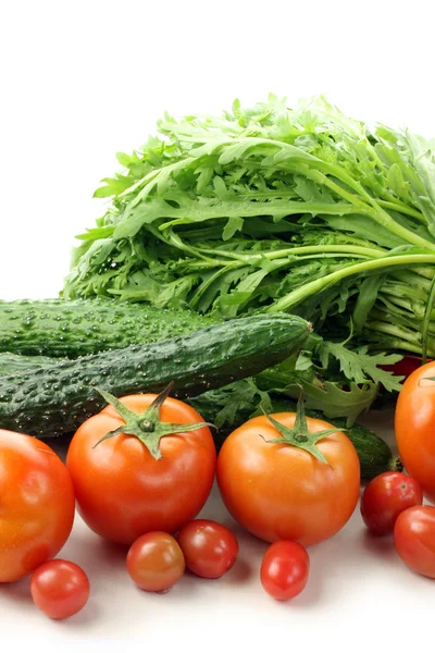
POLYGON ((97 392, 114 408, 116 408, 120 417, 125 421, 125 424, 122 424, 114 431, 109 431, 105 433, 95 445, 92 448, 98 446, 100 442, 103 440, 109 440, 114 435, 119 435, 120 433, 125 433, 127 435, 135 435, 140 440, 142 444, 147 447, 149 453, 156 460, 160 460, 162 458, 162 454, 160 451, 160 440, 165 435, 174 435, 175 433, 186 433, 188 431, 197 431, 203 427, 213 427, 209 422, 195 422, 187 424, 176 424, 171 422, 163 422, 160 419, 160 411, 163 406, 164 401, 169 397, 172 386, 174 385, 173 381, 165 387, 159 396, 152 402, 152 404, 145 410, 145 412, 134 412, 129 408, 127 408, 124 404, 120 402, 115 396, 111 395, 105 390, 101 387, 96 387, 97 392))

